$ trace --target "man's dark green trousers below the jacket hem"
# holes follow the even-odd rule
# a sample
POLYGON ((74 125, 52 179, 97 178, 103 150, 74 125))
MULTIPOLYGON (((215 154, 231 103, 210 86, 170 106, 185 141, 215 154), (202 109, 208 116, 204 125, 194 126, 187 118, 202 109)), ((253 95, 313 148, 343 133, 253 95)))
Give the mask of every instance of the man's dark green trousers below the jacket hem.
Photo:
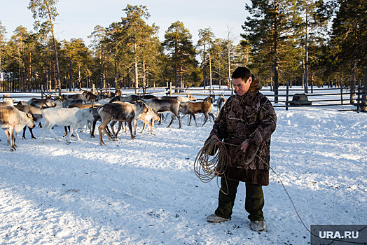
MULTIPOLYGON (((239 181, 231 181, 229 179, 221 178, 221 190, 219 191, 218 208, 215 211, 217 216, 222 218, 230 218, 232 216, 232 209, 235 205, 235 198, 239 181), (228 186, 228 188, 227 188, 228 186)), ((263 221, 263 207, 264 194, 263 186, 246 183, 246 199, 244 202, 244 209, 249 213, 250 221, 263 221)))

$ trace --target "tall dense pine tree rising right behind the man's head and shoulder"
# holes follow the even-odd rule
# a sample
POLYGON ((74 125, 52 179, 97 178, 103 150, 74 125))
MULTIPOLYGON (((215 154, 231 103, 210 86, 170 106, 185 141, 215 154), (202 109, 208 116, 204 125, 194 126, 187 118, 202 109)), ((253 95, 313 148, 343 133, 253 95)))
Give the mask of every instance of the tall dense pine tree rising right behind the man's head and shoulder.
POLYGON ((251 0, 246 9, 252 15, 242 25, 242 37, 252 48, 253 64, 261 76, 262 71, 272 70, 274 74, 275 103, 278 102, 279 68, 289 72, 297 64, 299 51, 296 50, 300 37, 301 18, 296 0, 251 0), (293 57, 292 57, 293 56, 293 57))

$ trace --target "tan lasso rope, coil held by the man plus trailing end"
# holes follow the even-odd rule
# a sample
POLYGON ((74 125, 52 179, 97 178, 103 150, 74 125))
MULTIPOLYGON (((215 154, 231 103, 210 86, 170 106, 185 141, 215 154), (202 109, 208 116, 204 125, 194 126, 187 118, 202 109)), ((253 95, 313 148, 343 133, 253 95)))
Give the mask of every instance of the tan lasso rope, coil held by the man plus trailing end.
MULTIPOLYGON (((237 146, 234 144, 228 144, 225 143, 223 141, 219 141, 217 139, 208 139, 204 146, 200 149, 198 155, 196 155, 195 158, 195 162, 194 162, 194 171, 196 176, 198 176, 198 178, 200 179, 200 181, 207 183, 209 181, 212 181, 212 179, 214 179, 216 176, 219 176, 221 174, 224 175, 224 172, 226 172, 227 169, 227 165, 228 165, 228 160, 229 160, 229 156, 227 153, 227 149, 226 149, 226 145, 230 145, 230 146, 237 146), (216 151, 216 147, 218 147, 218 151, 216 151), (213 155, 214 152, 214 155, 213 155), (213 155, 213 158, 210 160, 211 157, 211 153, 213 155)), ((241 147, 241 146, 238 146, 241 147)), ((282 186, 284 188, 284 191, 286 192, 286 195, 288 195, 289 200, 291 200, 291 203, 293 205, 294 210, 296 211, 296 214, 298 216, 298 219, 300 220, 300 222, 302 223, 302 225, 305 227, 305 229, 310 232, 311 235, 318 237, 317 235, 314 235, 305 225, 305 223, 303 223, 302 218, 300 218, 300 215, 298 214, 298 211, 296 209, 296 206, 293 203, 293 200, 291 199, 291 196, 289 195, 288 191, 286 190, 286 187, 283 184, 282 179, 280 179, 279 175, 274 171, 274 169, 272 169, 272 167, 270 167, 270 165, 268 164, 268 162, 265 162, 262 158, 260 158, 257 154, 256 156, 265 164, 267 165, 272 172, 274 172, 274 174, 278 177, 280 183, 282 183, 282 186)), ((224 175, 224 177, 226 178, 226 175, 224 175)), ((227 179, 226 179, 227 180, 227 179)), ((218 182, 217 182, 218 185, 218 182)), ((221 192, 223 192, 223 190, 220 188, 221 192)), ((227 186, 227 190, 228 190, 228 186, 227 186)), ((224 193, 224 194, 228 194, 228 193, 224 193)), ((362 228, 361 230, 366 229, 362 228)), ((359 230, 359 231, 361 231, 359 230)), ((355 241, 346 241, 345 239, 328 239, 328 238, 324 238, 326 240, 331 241, 331 244, 333 243, 333 241, 342 241, 345 243, 349 243, 349 244, 366 244, 364 242, 355 242, 355 241)))

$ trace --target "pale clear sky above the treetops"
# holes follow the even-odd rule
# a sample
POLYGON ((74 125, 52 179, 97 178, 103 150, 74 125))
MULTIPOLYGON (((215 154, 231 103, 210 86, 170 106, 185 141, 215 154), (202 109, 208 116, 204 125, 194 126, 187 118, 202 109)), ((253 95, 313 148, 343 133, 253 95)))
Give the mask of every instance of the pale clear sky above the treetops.
MULTIPOLYGON (((71 38, 83 38, 89 44, 88 36, 95 26, 109 27, 112 22, 118 22, 125 17, 123 8, 130 5, 143 5, 148 8, 151 18, 147 20, 149 25, 155 23, 160 27, 158 37, 164 40, 165 31, 177 20, 191 32, 193 43, 198 41, 198 30, 212 28, 216 38, 230 37, 237 43, 243 32, 243 25, 249 13, 244 9, 249 0, 141 0, 141 1, 78 1, 60 0, 56 7, 57 21, 55 22, 55 35, 57 40, 71 38)), ((0 8, 0 21, 8 32, 6 37, 10 39, 16 27, 22 25, 28 31, 33 30, 34 19, 31 10, 28 10, 29 0, 3 1, 0 8)))

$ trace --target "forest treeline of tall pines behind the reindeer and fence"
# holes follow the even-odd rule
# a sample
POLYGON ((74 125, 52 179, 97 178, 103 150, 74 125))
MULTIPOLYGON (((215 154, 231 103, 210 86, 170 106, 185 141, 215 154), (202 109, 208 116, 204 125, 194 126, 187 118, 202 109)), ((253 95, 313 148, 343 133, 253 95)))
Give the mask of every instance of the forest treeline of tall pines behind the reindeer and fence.
POLYGON ((230 31, 216 38, 208 27, 198 30, 198 43, 180 21, 160 41, 159 27, 146 22, 148 8, 127 4, 121 20, 91 30, 88 46, 55 39, 56 4, 31 0, 34 30, 19 26, 10 40, 0 20, 0 91, 230 86, 237 66, 275 88, 367 85, 365 0, 251 0, 240 41, 230 31))

